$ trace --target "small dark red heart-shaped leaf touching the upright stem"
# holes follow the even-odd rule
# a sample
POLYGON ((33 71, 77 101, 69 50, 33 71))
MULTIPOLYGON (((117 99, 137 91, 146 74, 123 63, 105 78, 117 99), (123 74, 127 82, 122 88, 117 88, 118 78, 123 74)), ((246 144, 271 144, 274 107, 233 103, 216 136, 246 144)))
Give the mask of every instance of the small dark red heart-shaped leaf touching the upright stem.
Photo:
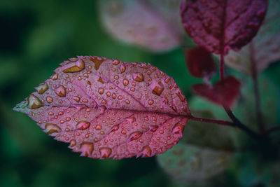
POLYGON ((240 95, 241 83, 233 76, 228 76, 223 81, 212 85, 196 84, 193 90, 198 95, 205 97, 211 102, 225 106, 232 106, 235 99, 240 95))

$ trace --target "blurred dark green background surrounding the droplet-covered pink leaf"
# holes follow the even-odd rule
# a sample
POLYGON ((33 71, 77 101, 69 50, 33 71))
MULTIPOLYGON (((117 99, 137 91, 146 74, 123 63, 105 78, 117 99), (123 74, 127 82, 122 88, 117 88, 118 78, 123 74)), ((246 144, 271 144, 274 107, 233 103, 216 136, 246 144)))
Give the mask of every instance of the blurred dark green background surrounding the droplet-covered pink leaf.
MULTIPOLYGON (((112 39, 99 22, 94 0, 1 0, 0 27, 0 186, 182 185, 155 158, 80 158, 29 117, 12 111, 60 62, 76 55, 150 62, 172 76, 190 100, 190 86, 201 80, 188 74, 181 48, 154 54, 112 39)), ((280 64, 264 72, 277 88, 279 72, 280 64)))

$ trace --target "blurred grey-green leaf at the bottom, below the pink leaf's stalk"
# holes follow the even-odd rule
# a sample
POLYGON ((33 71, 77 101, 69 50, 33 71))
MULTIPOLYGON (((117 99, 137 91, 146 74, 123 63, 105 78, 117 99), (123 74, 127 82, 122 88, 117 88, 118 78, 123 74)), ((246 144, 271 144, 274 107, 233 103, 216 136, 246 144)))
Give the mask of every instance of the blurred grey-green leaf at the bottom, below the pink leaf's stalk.
POLYGON ((202 182, 220 174, 228 166, 232 153, 182 144, 158 155, 167 174, 182 182, 202 182))

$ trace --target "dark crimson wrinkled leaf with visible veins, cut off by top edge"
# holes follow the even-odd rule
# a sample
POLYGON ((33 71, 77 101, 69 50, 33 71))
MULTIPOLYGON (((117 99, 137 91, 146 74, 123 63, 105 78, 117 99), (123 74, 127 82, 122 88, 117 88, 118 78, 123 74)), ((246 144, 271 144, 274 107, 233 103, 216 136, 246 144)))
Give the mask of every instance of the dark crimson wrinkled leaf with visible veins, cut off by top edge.
POLYGON ((239 50, 258 32, 267 0, 197 0, 181 3, 181 18, 195 43, 211 53, 239 50))

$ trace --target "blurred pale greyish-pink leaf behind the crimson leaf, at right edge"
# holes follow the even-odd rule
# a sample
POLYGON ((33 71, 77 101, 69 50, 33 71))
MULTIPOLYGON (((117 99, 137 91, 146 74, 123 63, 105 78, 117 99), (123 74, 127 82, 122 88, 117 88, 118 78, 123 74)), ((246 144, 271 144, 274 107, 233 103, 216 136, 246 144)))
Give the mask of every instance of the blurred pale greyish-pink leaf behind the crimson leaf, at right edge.
POLYGON ((238 52, 230 51, 225 57, 228 66, 251 74, 251 62, 258 71, 280 60, 280 1, 269 1, 265 21, 253 41, 238 52))

